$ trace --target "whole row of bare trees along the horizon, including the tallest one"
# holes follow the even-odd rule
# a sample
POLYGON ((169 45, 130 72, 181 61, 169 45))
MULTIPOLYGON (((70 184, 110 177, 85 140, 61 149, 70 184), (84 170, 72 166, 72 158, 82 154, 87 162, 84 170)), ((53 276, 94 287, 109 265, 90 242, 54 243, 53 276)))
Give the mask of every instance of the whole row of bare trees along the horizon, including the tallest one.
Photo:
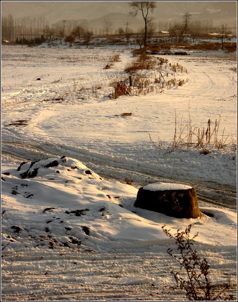
MULTIPOLYGON (((154 22, 150 16, 150 13, 156 8, 156 1, 131 1, 129 2, 129 7, 131 11, 129 14, 132 16, 137 16, 138 14, 144 20, 144 26, 139 28, 137 33, 133 33, 132 29, 128 27, 128 22, 126 22, 126 27, 119 27, 115 33, 126 37, 127 42, 132 34, 136 34, 136 41, 140 47, 146 43, 150 43, 150 39, 156 30, 165 30, 168 32, 171 42, 177 40, 177 42, 182 42, 184 35, 189 34, 193 41, 201 31, 209 31, 213 28, 213 22, 211 20, 207 21, 192 21, 192 14, 185 12, 182 15, 181 22, 154 22)), ((89 25, 86 20, 63 20, 51 27, 47 24, 45 18, 13 18, 11 15, 2 16, 2 40, 14 41, 17 37, 21 37, 24 34, 26 39, 32 39, 33 37, 44 36, 46 39, 51 40, 53 37, 58 37, 62 43, 62 39, 65 37, 78 37, 80 40, 90 40, 93 34, 97 34, 92 28, 89 30, 89 25)), ((98 30, 98 29, 97 29, 98 30)), ((99 34, 108 35, 113 30, 113 22, 109 19, 104 19, 102 23, 102 28, 99 30, 99 34)), ((223 39, 227 37, 228 27, 227 24, 222 24, 221 27, 214 29, 216 33, 221 34, 222 43, 223 39)))

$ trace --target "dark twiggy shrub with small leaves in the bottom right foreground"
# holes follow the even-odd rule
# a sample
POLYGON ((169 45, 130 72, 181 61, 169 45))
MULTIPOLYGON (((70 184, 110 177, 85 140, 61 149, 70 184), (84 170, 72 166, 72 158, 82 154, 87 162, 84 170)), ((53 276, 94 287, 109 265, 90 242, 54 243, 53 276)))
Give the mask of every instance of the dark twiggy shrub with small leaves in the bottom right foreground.
POLYGON ((197 255, 197 251, 193 249, 194 239, 198 236, 198 233, 196 233, 190 237, 191 228, 194 224, 190 224, 185 231, 177 230, 174 235, 171 235, 170 230, 165 228, 166 225, 162 226, 163 232, 175 240, 179 251, 179 255, 176 255, 173 253, 173 249, 169 248, 167 253, 179 263, 180 271, 185 270, 187 278, 182 277, 180 271, 174 271, 174 269, 171 269, 171 274, 173 274, 179 288, 186 291, 186 296, 190 301, 233 300, 233 295, 227 296, 225 293, 230 288, 230 284, 226 284, 216 291, 216 286, 211 284, 208 277, 210 265, 207 259, 201 260, 197 255))

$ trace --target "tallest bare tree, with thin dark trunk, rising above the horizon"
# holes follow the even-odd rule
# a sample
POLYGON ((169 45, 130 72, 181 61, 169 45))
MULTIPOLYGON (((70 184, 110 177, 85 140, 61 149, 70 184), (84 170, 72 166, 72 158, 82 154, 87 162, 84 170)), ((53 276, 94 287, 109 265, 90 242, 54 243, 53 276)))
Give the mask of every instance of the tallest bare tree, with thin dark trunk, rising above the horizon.
POLYGON ((146 34, 147 34, 147 24, 151 22, 151 18, 148 17, 149 11, 153 12, 156 8, 156 1, 131 1, 129 6, 132 8, 130 14, 136 16, 138 11, 141 11, 144 18, 144 47, 146 46, 146 34))

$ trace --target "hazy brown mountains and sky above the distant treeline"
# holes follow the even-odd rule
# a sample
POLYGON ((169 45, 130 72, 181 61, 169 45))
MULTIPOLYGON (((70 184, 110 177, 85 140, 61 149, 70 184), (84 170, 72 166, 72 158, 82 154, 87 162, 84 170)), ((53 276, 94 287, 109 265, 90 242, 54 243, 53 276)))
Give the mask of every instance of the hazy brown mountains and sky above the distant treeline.
MULTIPOLYGON (((212 19, 214 24, 236 24, 236 1, 156 1, 153 17, 155 21, 181 20, 184 12, 192 14, 192 20, 212 19)), ((104 18, 114 22, 114 28, 124 26, 138 28, 143 19, 138 12, 137 18, 128 15, 128 1, 2 1, 2 15, 13 17, 44 16, 49 24, 71 19, 87 19, 90 26, 97 27, 104 18), (96 23, 96 24, 94 24, 96 23)))

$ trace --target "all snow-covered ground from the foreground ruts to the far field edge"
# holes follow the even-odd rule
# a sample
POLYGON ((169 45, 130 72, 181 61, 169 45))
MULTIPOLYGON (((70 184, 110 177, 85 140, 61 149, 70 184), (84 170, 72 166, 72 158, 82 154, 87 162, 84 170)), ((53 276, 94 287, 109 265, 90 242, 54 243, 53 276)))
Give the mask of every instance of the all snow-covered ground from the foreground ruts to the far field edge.
POLYGON ((184 300, 166 252, 176 247, 161 227, 175 233, 190 223, 212 283, 230 281, 236 298, 236 56, 164 58, 188 73, 142 73, 184 85, 114 100, 130 50, 2 46, 2 172, 11 173, 2 175, 3 300, 184 300), (179 123, 190 112, 205 130, 220 114, 225 148, 173 149, 175 109, 179 123), (40 161, 37 176, 24 178, 31 161, 40 161), (214 217, 135 208, 138 188, 158 181, 194 187, 214 217))

